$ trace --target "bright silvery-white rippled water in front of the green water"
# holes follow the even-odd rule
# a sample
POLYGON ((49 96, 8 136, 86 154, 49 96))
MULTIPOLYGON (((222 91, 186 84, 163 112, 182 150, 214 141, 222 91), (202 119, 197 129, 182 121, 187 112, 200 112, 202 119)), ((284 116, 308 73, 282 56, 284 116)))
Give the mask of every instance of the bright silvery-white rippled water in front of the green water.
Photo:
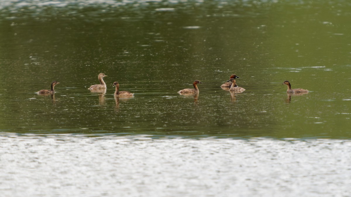
POLYGON ((5 196, 348 196, 350 140, 0 137, 5 196))

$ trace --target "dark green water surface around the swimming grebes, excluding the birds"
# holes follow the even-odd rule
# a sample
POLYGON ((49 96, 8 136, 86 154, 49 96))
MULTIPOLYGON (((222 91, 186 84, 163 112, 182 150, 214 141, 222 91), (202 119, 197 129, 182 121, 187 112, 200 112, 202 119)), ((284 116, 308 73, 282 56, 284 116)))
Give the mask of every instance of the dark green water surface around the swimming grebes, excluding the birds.
POLYGON ((14 2, 0 132, 350 138, 350 16, 347 1, 14 2), (106 94, 87 90, 99 73, 106 94), (220 88, 231 74, 244 93, 220 88), (194 80, 197 98, 178 95, 194 80), (114 81, 134 98, 115 100, 114 81))

